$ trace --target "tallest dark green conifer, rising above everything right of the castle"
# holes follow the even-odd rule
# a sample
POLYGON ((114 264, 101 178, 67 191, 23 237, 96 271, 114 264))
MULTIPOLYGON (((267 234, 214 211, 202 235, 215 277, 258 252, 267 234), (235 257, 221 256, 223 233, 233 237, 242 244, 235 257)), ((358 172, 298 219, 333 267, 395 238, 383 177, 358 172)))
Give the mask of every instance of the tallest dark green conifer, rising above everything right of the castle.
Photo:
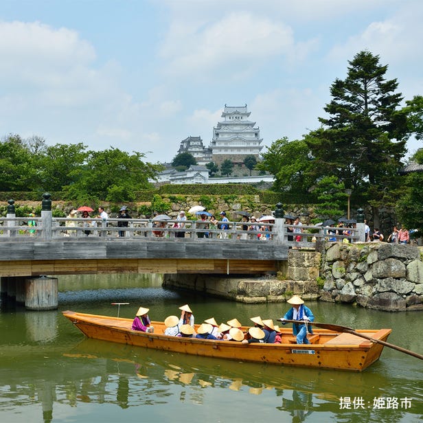
POLYGON ((378 208, 390 205, 407 141, 407 113, 400 108, 398 82, 386 80, 379 56, 360 52, 349 62, 345 80, 330 87, 332 100, 320 117, 322 128, 305 138, 314 176, 333 174, 345 187, 367 194, 378 226, 378 208))

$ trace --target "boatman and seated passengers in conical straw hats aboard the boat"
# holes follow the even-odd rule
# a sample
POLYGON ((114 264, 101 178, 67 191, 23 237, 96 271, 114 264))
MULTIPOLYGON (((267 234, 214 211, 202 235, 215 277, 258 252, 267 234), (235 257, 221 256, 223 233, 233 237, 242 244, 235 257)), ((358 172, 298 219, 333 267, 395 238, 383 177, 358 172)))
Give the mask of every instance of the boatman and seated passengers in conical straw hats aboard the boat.
MULTIPOLYGON (((299 295, 288 299, 292 307, 284 317, 277 319, 284 325, 293 323, 293 335, 298 344, 308 344, 308 334, 312 334, 311 323, 315 317, 310 308, 304 306, 304 300, 299 295)), ((165 318, 165 330, 163 334, 168 336, 181 336, 186 338, 211 339, 215 341, 234 341, 244 344, 249 343, 282 343, 282 330, 273 323, 272 319, 262 319, 260 316, 251 317, 253 325, 242 330, 242 324, 238 319, 226 322, 216 322, 214 317, 205 319, 197 328, 194 326, 194 314, 188 304, 179 307, 181 316, 170 315, 165 318)), ((154 327, 148 317, 149 309, 139 307, 132 330, 141 332, 154 332, 154 327)))

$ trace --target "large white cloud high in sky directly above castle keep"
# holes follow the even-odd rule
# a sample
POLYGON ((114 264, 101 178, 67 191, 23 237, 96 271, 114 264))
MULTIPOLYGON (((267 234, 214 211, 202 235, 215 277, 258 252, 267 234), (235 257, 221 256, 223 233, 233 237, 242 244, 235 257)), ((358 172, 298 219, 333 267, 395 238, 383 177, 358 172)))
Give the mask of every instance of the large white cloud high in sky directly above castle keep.
POLYGON ((219 71, 229 77, 236 63, 245 72, 267 58, 291 54, 294 48, 293 32, 287 25, 249 12, 233 12, 204 25, 174 23, 161 56, 170 62, 166 69, 174 74, 219 71))

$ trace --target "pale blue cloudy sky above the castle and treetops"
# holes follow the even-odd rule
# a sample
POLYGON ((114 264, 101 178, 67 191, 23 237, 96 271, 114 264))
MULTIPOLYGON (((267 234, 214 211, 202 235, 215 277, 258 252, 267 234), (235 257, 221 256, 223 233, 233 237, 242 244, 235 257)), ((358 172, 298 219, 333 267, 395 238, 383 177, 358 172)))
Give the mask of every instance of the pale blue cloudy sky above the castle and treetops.
POLYGON ((365 49, 423 95, 422 21, 421 0, 1 0, 0 137, 168 162, 247 104, 266 152, 319 127, 365 49))

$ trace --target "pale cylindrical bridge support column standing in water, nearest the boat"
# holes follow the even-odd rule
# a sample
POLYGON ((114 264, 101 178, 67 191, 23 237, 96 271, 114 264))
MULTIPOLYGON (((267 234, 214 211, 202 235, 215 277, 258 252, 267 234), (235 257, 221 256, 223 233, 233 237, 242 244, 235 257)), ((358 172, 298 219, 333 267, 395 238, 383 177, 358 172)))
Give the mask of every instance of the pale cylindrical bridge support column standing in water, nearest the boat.
POLYGON ((33 277, 25 280, 25 307, 27 310, 56 310, 58 308, 58 279, 33 277))

